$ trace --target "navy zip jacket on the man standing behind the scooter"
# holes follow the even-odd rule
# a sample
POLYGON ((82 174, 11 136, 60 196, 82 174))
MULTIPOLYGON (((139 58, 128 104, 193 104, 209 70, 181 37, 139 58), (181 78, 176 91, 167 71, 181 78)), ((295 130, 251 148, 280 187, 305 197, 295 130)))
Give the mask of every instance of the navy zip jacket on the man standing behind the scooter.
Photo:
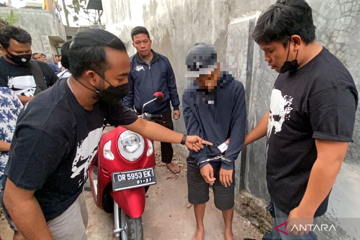
POLYGON ((144 103, 153 99, 155 92, 162 92, 165 96, 161 103, 146 105, 145 112, 163 114, 170 109, 170 101, 174 110, 179 110, 179 95, 177 95, 174 71, 166 56, 153 53, 150 66, 138 53, 131 56, 131 71, 128 77, 129 94, 123 99, 126 107, 135 107, 141 112, 144 103))

